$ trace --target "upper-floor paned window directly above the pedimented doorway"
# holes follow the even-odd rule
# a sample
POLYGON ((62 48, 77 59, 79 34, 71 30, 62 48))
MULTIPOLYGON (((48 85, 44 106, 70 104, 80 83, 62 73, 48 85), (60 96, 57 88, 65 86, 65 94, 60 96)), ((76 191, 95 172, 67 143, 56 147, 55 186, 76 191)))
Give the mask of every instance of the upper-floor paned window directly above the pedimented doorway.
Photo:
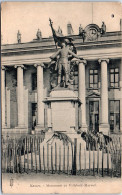
POLYGON ((89 71, 89 87, 98 88, 98 70, 89 71))

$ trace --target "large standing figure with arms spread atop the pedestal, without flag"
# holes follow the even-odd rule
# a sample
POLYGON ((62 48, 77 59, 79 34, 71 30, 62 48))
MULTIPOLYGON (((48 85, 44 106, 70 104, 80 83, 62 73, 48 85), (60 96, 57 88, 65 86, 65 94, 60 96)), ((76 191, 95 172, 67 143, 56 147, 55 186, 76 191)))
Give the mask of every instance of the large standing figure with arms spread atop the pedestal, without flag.
POLYGON ((58 68, 58 85, 61 84, 62 78, 64 77, 65 87, 69 85, 69 73, 70 73, 70 63, 68 61, 69 55, 80 59, 78 55, 73 53, 71 49, 69 49, 69 45, 66 45, 65 42, 62 43, 62 48, 59 49, 54 55, 50 58, 52 60, 57 61, 57 68, 58 68), (57 60, 58 58, 58 60, 57 60))

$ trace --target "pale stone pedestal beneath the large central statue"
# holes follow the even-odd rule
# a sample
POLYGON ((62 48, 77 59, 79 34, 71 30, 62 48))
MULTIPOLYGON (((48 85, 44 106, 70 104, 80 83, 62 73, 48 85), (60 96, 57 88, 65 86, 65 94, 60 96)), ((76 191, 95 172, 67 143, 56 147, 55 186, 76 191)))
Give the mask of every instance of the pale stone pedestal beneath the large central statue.
POLYGON ((48 132, 45 135, 49 139, 54 132, 62 132, 68 135, 72 141, 74 138, 82 140, 81 135, 77 134, 79 129, 78 105, 81 105, 75 92, 70 89, 57 88, 50 93, 50 97, 45 98, 44 102, 48 105, 48 132))

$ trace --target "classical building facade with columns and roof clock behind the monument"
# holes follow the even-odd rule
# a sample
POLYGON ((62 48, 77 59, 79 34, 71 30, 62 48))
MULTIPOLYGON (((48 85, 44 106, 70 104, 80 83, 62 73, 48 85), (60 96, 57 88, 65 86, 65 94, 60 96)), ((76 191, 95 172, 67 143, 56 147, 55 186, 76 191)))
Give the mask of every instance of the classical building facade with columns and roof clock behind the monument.
MULTIPOLYGON (((95 24, 85 34, 71 35, 77 55, 70 64, 71 89, 79 98, 75 128, 78 131, 122 132, 122 31, 99 33, 95 24)), ((46 131, 46 101, 57 85, 56 52, 52 37, 29 43, 2 45, 2 133, 46 131)), ((51 125, 50 125, 51 123, 51 125)))

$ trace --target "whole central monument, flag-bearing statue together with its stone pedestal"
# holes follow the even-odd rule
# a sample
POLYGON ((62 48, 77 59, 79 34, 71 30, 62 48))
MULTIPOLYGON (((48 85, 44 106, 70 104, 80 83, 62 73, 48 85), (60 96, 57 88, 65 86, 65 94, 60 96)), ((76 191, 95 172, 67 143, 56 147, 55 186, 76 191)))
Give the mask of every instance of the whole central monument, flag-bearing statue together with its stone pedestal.
POLYGON ((48 124, 48 131, 45 134, 45 138, 48 142, 48 140, 51 140, 51 136, 54 139, 54 133, 62 133, 72 141, 74 141, 74 138, 80 139, 80 142, 82 141, 85 146, 81 135, 78 134, 80 130, 79 118, 81 118, 80 109, 82 102, 70 87, 69 79, 71 60, 77 58, 80 61, 81 58, 73 52, 75 51, 75 46, 70 37, 57 36, 52 27, 52 23, 51 28, 56 46, 58 45, 60 48, 50 57, 52 62, 50 64, 56 66, 58 81, 57 86, 52 89, 49 97, 44 99, 47 105, 48 124))

